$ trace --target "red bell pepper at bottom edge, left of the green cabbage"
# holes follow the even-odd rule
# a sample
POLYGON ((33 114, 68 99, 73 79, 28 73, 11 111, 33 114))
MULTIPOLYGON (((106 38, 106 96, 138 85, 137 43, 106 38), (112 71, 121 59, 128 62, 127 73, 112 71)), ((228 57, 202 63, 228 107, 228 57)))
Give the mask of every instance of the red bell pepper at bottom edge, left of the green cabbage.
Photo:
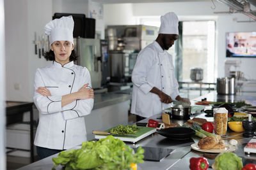
POLYGON ((189 169, 191 170, 206 170, 209 167, 208 160, 205 157, 195 158, 192 157, 190 160, 189 169))

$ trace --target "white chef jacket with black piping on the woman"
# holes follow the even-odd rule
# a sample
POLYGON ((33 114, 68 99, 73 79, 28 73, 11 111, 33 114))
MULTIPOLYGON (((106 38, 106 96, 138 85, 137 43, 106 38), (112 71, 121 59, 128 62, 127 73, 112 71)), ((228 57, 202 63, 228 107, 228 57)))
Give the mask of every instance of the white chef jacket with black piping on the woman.
POLYGON ((39 68, 35 74, 35 90, 46 87, 51 96, 34 93, 34 103, 39 110, 36 146, 64 150, 86 141, 84 117, 91 113, 93 99, 76 100, 61 107, 61 97, 77 92, 83 85, 92 87, 86 67, 68 62, 61 66, 54 61, 51 66, 39 68))

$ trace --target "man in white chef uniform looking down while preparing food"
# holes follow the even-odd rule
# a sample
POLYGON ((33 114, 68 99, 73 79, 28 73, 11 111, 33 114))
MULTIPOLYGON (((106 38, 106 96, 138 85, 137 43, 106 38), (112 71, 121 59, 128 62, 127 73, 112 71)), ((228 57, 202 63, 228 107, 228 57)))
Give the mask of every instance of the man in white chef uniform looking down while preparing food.
POLYGON ((132 71, 131 105, 131 113, 137 116, 137 121, 162 113, 174 100, 190 104, 189 99, 179 96, 172 55, 167 52, 178 39, 178 24, 178 17, 173 12, 161 16, 156 41, 138 54, 132 71))

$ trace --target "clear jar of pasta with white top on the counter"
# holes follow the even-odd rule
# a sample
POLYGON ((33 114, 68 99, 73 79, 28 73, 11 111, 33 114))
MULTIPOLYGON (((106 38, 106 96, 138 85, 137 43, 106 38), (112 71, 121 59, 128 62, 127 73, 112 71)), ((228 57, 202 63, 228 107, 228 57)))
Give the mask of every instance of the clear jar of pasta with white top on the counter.
POLYGON ((225 108, 214 110, 214 132, 225 135, 227 133, 228 111, 225 108))

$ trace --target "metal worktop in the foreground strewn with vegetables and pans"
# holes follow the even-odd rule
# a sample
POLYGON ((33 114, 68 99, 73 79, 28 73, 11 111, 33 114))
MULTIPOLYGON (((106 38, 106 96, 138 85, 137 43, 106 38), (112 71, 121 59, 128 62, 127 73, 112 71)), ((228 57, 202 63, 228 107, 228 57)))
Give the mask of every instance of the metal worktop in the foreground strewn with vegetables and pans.
MULTIPOLYGON (((255 106, 255 99, 256 99, 256 93, 239 93, 234 96, 220 96, 217 95, 216 92, 211 92, 207 95, 197 97, 194 99, 191 103, 195 103, 195 101, 200 101, 201 99, 207 98, 207 101, 225 101, 225 102, 236 102, 244 100, 247 103, 252 103, 255 106)), ((204 117, 204 113, 196 113, 195 115, 192 115, 193 117, 204 117)), ((161 114, 154 115, 153 118, 157 120, 157 118, 161 117, 161 114)), ((205 118, 205 117, 204 117, 205 118)), ((141 120, 141 122, 147 122, 149 118, 145 120, 141 120)), ((174 121, 171 119, 172 122, 174 121)), ((212 121, 213 118, 207 118, 207 120, 212 121)), ((182 122, 182 120, 179 120, 179 122, 182 122)), ((241 135, 241 134, 240 134, 241 135)), ((239 135, 238 135, 239 136, 239 135)), ((245 155, 243 152, 243 148, 250 141, 251 138, 242 138, 242 137, 234 137, 229 136, 223 138, 226 143, 228 143, 229 139, 235 138, 238 141, 237 149, 234 153, 236 153, 239 157, 243 159, 243 164, 248 163, 254 163, 256 164, 256 155, 245 155)), ((206 157, 209 161, 209 165, 211 166, 214 162, 214 158, 218 153, 204 153, 204 152, 197 152, 195 150, 191 150, 191 145, 193 143, 197 143, 200 138, 197 138, 194 136, 191 139, 186 139, 182 141, 177 141, 173 139, 165 138, 164 136, 161 136, 157 133, 152 134, 148 136, 147 138, 141 139, 141 141, 138 141, 136 144, 127 143, 127 145, 131 147, 138 147, 138 146, 150 146, 150 147, 161 147, 161 148, 171 148, 174 151, 168 155, 168 157, 164 158, 160 162, 153 162, 153 161, 145 161, 143 164, 138 164, 138 169, 189 169, 189 159, 191 157, 206 157)), ((34 162, 33 164, 29 164, 28 166, 21 167, 22 169, 51 169, 53 167, 52 164, 52 157, 57 157, 58 153, 55 155, 52 155, 51 157, 47 157, 45 159, 39 160, 37 162, 34 162)), ((56 169, 61 169, 59 166, 56 169)), ((211 168, 209 168, 211 169, 211 168)))

